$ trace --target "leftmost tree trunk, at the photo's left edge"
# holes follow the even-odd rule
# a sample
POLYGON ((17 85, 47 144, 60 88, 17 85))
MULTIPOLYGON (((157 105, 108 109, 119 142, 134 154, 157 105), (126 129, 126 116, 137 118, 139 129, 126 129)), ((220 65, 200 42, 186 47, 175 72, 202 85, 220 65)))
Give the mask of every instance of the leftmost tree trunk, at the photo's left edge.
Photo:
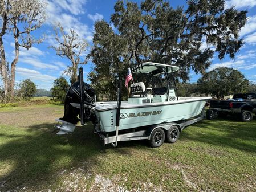
POLYGON ((5 101, 7 100, 7 97, 9 97, 9 78, 8 78, 8 66, 5 59, 5 49, 3 47, 3 39, 2 36, 0 36, 0 58, 1 58, 1 77, 3 80, 3 85, 5 87, 5 101))

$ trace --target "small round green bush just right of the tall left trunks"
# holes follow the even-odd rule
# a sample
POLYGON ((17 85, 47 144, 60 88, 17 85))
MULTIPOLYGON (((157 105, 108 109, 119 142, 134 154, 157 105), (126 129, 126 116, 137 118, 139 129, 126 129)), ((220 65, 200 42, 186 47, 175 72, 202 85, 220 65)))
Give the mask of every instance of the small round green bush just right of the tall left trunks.
POLYGON ((30 99, 36 93, 36 85, 31 79, 25 79, 21 82, 19 96, 23 99, 30 99))

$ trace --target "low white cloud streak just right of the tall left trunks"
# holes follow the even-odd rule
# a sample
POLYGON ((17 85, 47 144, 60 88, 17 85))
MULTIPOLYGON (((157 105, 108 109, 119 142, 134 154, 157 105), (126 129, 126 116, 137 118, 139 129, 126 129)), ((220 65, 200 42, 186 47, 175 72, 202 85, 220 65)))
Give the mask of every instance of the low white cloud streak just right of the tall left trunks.
POLYGON ((30 69, 22 68, 22 67, 17 67, 16 72, 25 78, 30 78, 31 80, 54 80, 54 79, 56 79, 55 77, 53 77, 51 75, 42 74, 39 71, 30 70, 30 69))

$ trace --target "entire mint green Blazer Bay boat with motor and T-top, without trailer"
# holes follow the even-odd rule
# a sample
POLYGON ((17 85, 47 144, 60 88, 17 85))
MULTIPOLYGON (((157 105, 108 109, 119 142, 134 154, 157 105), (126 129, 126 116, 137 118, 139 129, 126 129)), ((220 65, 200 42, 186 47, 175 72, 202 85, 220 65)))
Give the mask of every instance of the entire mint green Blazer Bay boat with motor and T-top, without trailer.
POLYGON ((82 124, 92 121, 96 132, 106 136, 200 115, 206 101, 212 97, 178 97, 174 79, 178 70, 179 67, 168 64, 140 64, 131 68, 132 75, 138 77, 129 87, 131 92, 127 101, 120 99, 119 84, 117 101, 95 102, 95 92, 83 82, 83 70, 79 68, 79 82, 67 92, 64 117, 57 120, 63 124, 55 127, 59 129, 58 134, 74 131, 78 121, 82 124))

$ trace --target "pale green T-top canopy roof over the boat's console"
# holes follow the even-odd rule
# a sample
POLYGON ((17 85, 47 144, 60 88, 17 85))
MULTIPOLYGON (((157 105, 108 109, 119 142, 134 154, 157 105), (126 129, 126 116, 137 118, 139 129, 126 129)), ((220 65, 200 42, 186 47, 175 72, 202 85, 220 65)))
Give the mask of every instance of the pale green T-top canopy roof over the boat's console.
POLYGON ((132 73, 152 73, 153 75, 159 75, 162 72, 173 73, 178 71, 180 68, 177 66, 171 66, 161 63, 146 62, 140 66, 132 68, 132 73))

